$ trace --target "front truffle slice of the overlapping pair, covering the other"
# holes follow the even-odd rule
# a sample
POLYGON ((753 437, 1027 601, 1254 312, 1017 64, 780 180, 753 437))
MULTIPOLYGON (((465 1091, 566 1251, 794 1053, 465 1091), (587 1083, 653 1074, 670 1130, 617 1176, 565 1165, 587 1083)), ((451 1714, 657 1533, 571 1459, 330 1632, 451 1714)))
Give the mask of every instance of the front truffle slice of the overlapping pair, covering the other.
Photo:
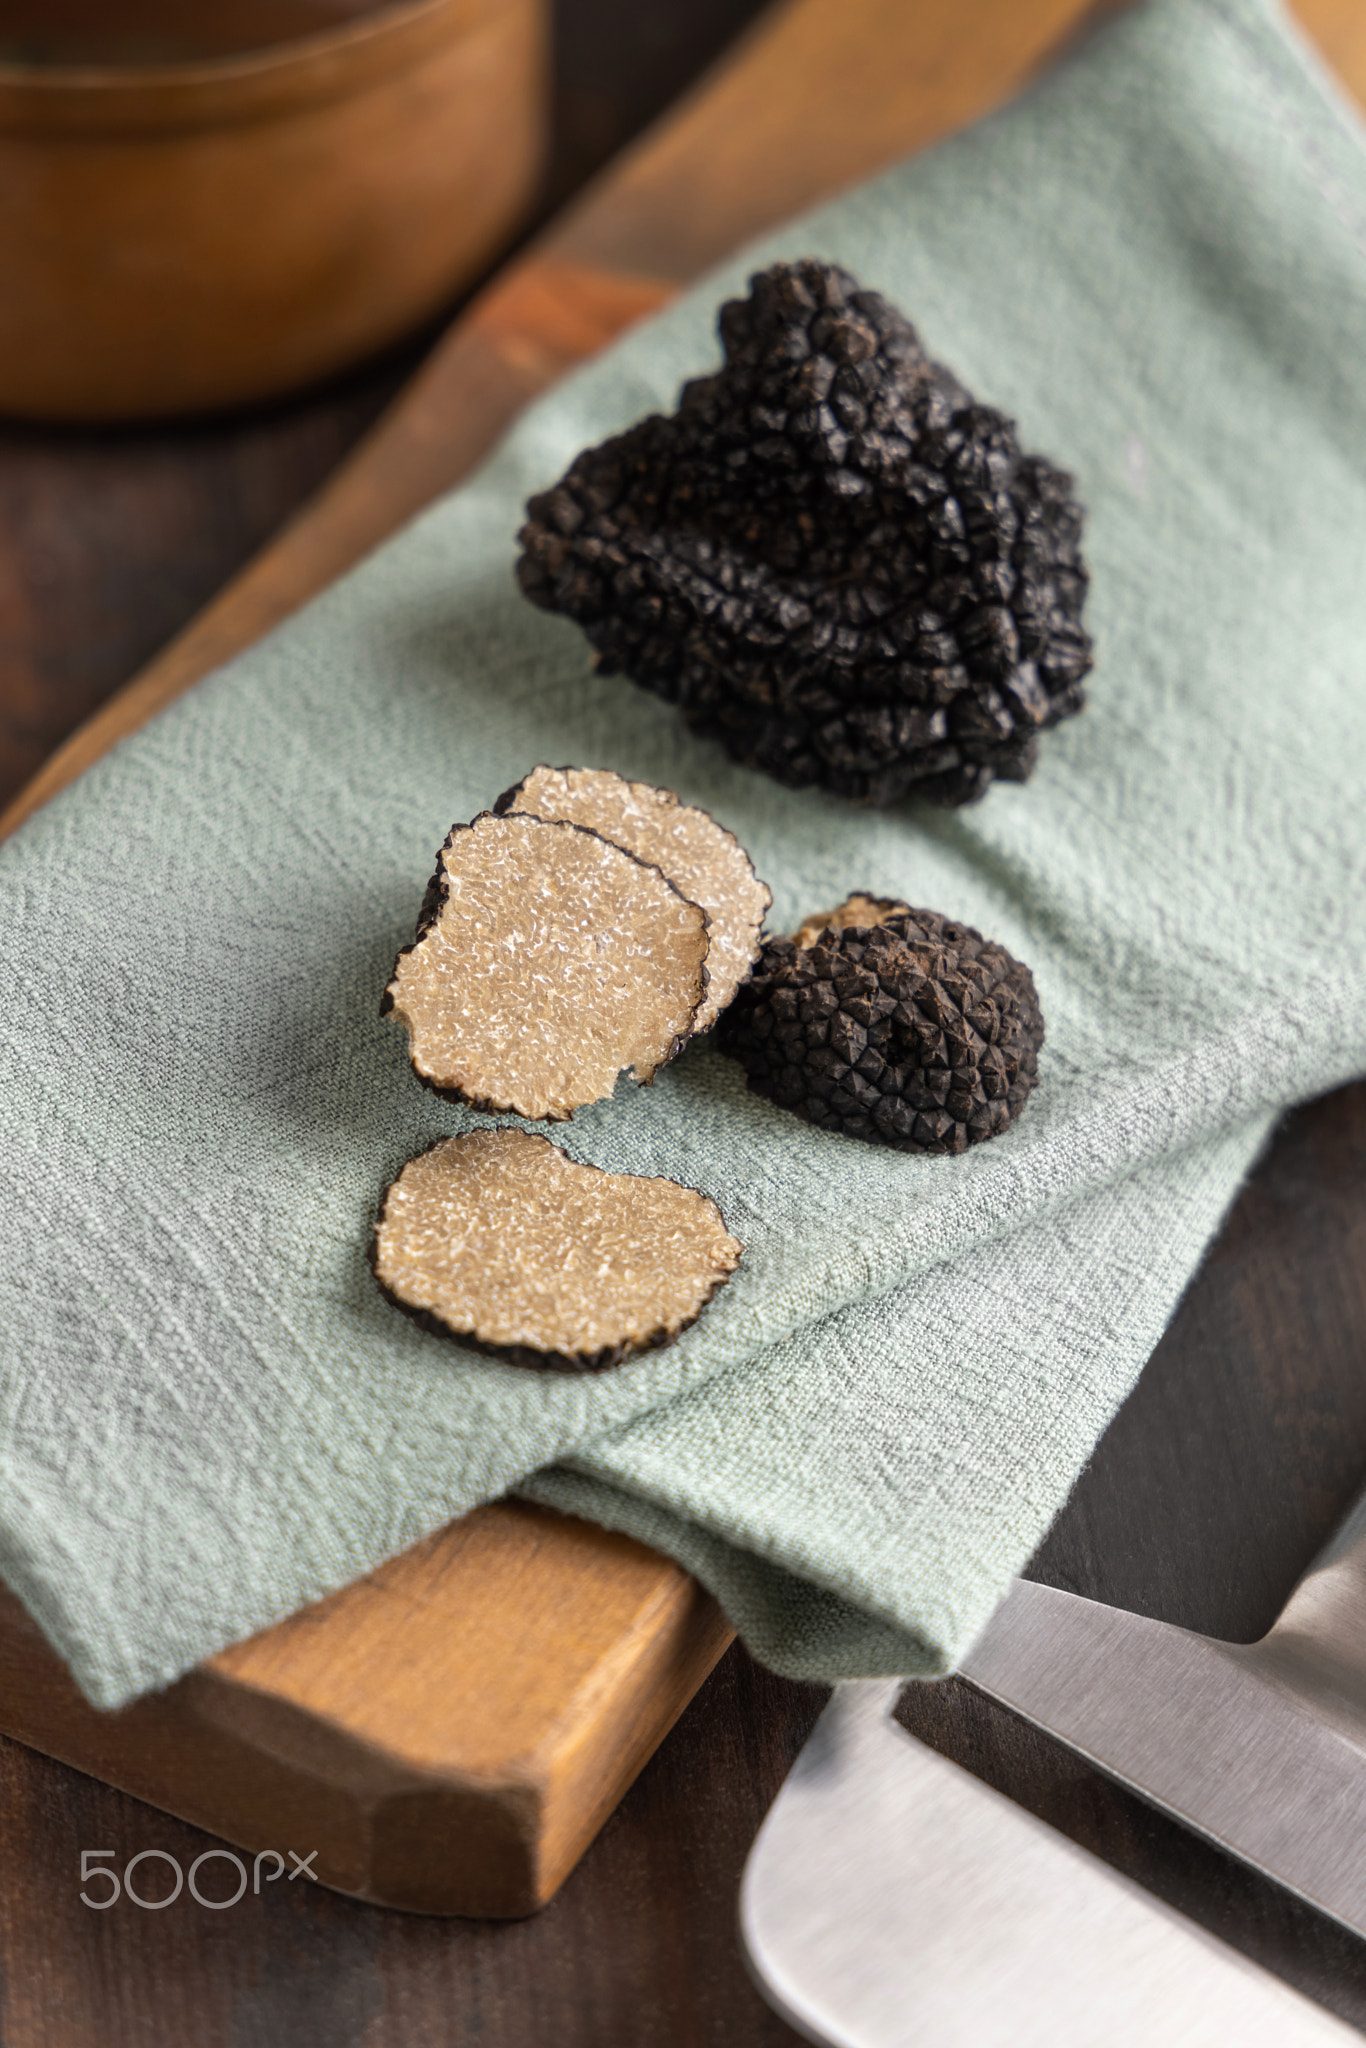
POLYGON ((428 1087, 563 1120, 649 1081, 707 993, 707 911, 659 868, 582 825, 453 825, 385 1010, 428 1087))

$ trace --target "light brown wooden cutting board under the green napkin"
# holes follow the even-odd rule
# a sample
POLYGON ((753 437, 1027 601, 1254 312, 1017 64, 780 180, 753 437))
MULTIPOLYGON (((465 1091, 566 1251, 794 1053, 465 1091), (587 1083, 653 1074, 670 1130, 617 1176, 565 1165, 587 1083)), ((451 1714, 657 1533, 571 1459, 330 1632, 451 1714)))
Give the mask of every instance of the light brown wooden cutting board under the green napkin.
MULTIPOLYGON (((1366 96, 1360 0, 1298 0, 1366 96)), ((426 506, 573 362, 750 236, 1010 96, 1092 0, 788 0, 451 328, 326 489, 82 727, 0 834, 426 506)), ((0 1587, 0 1731, 338 1890, 543 1905, 731 1640, 625 1536, 516 1501, 96 1714, 0 1587)))

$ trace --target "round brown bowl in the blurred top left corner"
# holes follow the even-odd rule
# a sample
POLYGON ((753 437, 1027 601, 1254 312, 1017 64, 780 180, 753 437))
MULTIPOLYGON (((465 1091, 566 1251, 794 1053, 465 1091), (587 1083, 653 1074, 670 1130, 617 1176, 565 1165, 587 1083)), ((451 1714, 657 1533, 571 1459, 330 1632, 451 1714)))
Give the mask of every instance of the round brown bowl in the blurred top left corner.
POLYGON ((0 412, 268 397, 522 215, 541 0, 0 0, 0 412))

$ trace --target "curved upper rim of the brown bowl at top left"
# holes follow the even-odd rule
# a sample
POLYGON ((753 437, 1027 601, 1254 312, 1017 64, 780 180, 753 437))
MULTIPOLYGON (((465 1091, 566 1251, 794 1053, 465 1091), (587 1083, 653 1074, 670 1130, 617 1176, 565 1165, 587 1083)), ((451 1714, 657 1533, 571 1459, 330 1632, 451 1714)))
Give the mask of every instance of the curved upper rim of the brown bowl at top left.
MULTIPOLYGON (((174 129, 340 98, 356 82, 424 55, 453 31, 496 20, 502 0, 377 0, 365 14, 283 43, 166 63, 14 63, 0 59, 0 133, 174 129), (375 47, 389 61, 375 70, 375 47)), ((508 6, 508 14, 518 12, 508 6)))

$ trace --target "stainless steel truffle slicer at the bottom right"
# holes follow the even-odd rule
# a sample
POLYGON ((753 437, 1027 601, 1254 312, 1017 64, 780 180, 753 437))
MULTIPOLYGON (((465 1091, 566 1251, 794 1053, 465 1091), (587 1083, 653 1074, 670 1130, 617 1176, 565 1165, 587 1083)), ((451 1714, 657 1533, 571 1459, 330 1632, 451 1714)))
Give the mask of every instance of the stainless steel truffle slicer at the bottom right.
MULTIPOLYGON (((1366 1933, 1366 1495, 1253 1645, 1016 1581, 961 1677, 1366 1933)), ((836 1692, 745 1868, 760 1989, 809 2040, 1128 2048, 1360 2036, 836 1692)))

